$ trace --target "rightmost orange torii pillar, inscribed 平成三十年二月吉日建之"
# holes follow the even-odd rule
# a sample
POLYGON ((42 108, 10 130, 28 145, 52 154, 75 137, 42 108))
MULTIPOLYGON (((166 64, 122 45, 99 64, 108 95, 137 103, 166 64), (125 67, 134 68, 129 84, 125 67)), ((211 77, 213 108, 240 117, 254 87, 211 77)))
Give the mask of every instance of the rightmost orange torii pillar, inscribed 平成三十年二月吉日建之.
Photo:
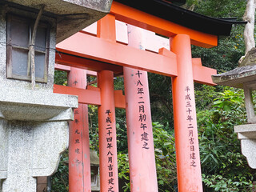
POLYGON ((178 191, 202 192, 190 36, 177 34, 170 48, 178 68, 178 76, 172 78, 178 191))

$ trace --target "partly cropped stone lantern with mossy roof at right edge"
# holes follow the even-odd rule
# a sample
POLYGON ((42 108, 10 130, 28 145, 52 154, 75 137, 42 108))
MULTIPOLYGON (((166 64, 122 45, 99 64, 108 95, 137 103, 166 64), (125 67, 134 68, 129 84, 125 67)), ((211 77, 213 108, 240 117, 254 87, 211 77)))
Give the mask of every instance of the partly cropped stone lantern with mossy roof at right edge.
POLYGON ((256 116, 252 91, 256 90, 256 49, 247 54, 241 64, 234 70, 212 76, 218 85, 232 86, 244 90, 247 124, 234 126, 241 140, 242 154, 246 156, 249 166, 256 169, 256 116))

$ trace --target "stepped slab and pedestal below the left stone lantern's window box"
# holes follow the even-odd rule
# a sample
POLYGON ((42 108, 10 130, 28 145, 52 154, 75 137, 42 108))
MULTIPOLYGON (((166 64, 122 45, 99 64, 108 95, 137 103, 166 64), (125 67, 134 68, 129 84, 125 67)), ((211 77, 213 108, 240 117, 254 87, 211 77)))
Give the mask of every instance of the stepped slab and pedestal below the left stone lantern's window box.
POLYGON ((1 191, 34 192, 36 177, 57 170, 78 99, 19 88, 2 88, 1 93, 1 191))

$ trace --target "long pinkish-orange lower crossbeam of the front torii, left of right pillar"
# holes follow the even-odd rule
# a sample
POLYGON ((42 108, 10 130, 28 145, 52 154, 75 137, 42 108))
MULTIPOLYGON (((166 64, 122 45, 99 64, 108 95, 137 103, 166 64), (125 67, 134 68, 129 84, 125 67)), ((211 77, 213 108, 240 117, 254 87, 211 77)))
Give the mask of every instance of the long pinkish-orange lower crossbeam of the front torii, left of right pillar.
MULTIPOLYGON (((166 76, 176 76, 176 56, 165 57, 145 50, 138 50, 130 46, 125 46, 117 42, 110 42, 106 39, 95 38, 93 36, 77 33, 58 43, 57 50, 66 54, 74 54, 82 58, 90 58, 99 62, 108 62, 118 66, 129 66, 138 70, 162 74, 166 76), (88 46, 89 45, 89 46, 88 46)), ((56 61, 62 62, 65 59, 56 54, 56 61)), ((65 56, 64 56, 65 57, 65 56)), ((72 61, 70 61, 72 63, 72 61)), ((67 65, 71 63, 66 62, 67 65)), ((82 66, 82 63, 81 63, 82 66)), ((92 70, 91 64, 88 70, 92 70)), ((111 70, 111 69, 109 69, 111 70)))

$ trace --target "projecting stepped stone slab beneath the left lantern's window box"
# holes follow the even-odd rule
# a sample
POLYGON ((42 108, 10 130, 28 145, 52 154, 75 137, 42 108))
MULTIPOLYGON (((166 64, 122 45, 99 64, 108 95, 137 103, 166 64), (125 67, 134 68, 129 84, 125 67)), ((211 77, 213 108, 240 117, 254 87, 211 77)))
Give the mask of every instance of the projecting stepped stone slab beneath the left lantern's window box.
POLYGON ((22 121, 70 121, 77 96, 50 94, 46 91, 2 88, 0 118, 22 121))

